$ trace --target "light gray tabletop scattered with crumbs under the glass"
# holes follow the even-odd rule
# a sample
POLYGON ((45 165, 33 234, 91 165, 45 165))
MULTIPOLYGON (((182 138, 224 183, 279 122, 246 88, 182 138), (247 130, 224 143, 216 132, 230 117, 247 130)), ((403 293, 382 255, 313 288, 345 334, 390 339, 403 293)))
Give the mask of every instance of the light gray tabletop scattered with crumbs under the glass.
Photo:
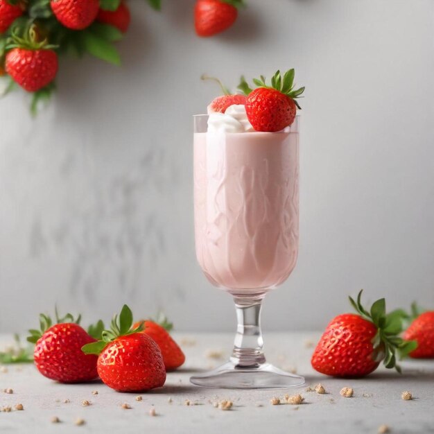
MULTIPOLYGON (((310 356, 320 333, 267 333, 268 360, 296 370, 306 385, 292 390, 223 390, 198 388, 189 383, 193 372, 216 367, 229 355, 232 335, 179 333, 175 338, 186 353, 186 363, 169 373, 163 388, 141 394, 122 394, 103 383, 63 385, 40 375, 33 365, 7 365, 0 369, 1 433, 377 433, 381 424, 390 433, 434 433, 434 361, 404 361, 403 374, 379 368, 365 379, 332 379, 313 371, 310 356), (221 356, 221 357, 219 357, 221 356), (6 368, 6 369, 5 369, 6 368), (306 391, 322 383, 327 394, 306 391), (342 387, 354 389, 343 398, 342 387), (12 388, 13 393, 3 392, 12 388), (97 390, 98 394, 92 394, 97 390), (403 401, 409 390, 415 399, 403 401), (300 393, 300 406, 270 403, 272 397, 300 393), (69 403, 64 403, 69 399, 69 403), (169 402, 171 399, 171 402, 169 402), (187 406, 185 400, 194 404, 187 406), (223 411, 213 403, 234 402, 223 411), (82 401, 90 401, 83 406, 82 401), (23 411, 13 410, 22 403, 23 411), (131 409, 121 408, 128 403, 131 409), (155 408, 155 417, 149 414, 155 408), (51 423, 57 416, 60 424, 51 423), (76 419, 85 420, 76 426, 76 419)), ((0 337, 0 344, 10 340, 0 337)))

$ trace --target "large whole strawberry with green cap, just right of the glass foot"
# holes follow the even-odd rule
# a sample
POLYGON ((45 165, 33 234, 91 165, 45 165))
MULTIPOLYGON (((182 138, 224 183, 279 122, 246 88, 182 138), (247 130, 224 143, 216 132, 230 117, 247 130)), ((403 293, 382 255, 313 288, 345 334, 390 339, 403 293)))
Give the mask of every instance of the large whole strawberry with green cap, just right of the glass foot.
POLYGON ((401 311, 385 314, 385 300, 372 305, 370 313, 361 305, 361 294, 357 302, 349 297, 359 315, 346 313, 331 320, 322 334, 311 359, 318 372, 332 376, 358 377, 370 374, 383 361, 385 367, 395 367, 395 351, 406 355, 415 348, 415 342, 399 338, 401 311))

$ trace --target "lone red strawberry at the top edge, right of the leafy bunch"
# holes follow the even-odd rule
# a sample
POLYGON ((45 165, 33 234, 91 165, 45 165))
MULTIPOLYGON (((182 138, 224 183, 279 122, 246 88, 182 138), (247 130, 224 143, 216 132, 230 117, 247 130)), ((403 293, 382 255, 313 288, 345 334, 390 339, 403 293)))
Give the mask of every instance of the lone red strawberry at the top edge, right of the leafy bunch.
POLYGON ((194 8, 196 33, 206 37, 221 33, 238 17, 243 0, 198 0, 194 8))

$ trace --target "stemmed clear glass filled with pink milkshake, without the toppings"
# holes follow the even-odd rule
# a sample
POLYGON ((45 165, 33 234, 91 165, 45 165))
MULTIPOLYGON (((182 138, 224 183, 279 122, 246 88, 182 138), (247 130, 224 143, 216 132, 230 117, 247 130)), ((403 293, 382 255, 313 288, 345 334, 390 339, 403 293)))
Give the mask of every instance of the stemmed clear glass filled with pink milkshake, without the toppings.
POLYGON ((260 313, 268 290, 297 261, 299 119, 281 132, 207 132, 194 116, 196 257, 211 284, 234 297, 238 327, 229 361, 191 383, 291 388, 304 378, 266 362, 260 313))

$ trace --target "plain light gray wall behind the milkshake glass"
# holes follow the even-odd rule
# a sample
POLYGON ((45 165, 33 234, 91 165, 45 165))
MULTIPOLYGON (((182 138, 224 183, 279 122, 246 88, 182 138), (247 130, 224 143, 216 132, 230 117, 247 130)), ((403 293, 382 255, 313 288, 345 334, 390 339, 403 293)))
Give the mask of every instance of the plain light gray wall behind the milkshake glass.
POLYGON ((249 0, 208 40, 193 0, 130 3, 122 68, 62 60, 35 120, 21 92, 0 102, 0 331, 55 302, 234 329, 194 256, 191 115, 218 94, 203 72, 235 86, 289 67, 306 85, 300 256, 264 326, 319 329, 359 288, 433 308, 434 2, 249 0))

